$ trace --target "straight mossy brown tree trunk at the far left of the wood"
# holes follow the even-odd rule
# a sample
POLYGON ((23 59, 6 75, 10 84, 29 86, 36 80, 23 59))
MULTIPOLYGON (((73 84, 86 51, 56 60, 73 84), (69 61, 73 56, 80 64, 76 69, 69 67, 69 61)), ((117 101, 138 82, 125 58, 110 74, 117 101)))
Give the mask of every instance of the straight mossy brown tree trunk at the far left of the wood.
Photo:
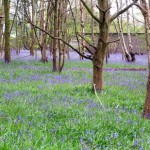
POLYGON ((9 11, 10 11, 10 1, 4 0, 4 13, 5 13, 5 62, 10 63, 10 20, 9 20, 9 11))

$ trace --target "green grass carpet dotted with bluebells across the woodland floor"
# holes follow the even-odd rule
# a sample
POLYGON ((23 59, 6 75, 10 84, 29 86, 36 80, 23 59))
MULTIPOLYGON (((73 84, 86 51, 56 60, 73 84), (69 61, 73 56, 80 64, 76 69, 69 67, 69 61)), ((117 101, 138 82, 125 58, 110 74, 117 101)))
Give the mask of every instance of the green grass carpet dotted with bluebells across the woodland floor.
MULTIPOLYGON (((105 68, 123 66, 143 67, 105 68)), ((58 74, 51 63, 0 62, 0 149, 150 149, 149 121, 141 117, 147 72, 105 71, 97 97, 91 67, 68 61, 58 74)))

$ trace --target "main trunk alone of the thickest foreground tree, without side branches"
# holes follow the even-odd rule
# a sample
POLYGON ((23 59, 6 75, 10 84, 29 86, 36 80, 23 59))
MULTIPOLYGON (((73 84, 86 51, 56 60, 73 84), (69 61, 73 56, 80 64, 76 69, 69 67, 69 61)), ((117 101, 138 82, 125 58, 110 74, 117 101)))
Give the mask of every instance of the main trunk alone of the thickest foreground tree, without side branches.
MULTIPOLYGON (((107 10, 109 8, 109 2, 99 1, 99 7, 102 10, 107 10)), ((107 50, 107 42, 109 36, 109 19, 110 12, 107 11, 106 14, 100 13, 100 23, 99 23, 99 38, 97 44, 97 50, 94 53, 93 58, 93 89, 96 91, 101 91, 103 89, 103 63, 105 58, 105 53, 107 50)))

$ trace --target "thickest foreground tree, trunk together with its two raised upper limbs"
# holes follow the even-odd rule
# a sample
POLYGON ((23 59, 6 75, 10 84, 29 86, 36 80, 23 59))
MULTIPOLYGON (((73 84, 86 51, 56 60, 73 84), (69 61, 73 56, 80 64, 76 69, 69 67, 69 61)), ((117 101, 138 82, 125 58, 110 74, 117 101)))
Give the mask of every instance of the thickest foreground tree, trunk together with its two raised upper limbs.
POLYGON ((90 8, 87 6, 84 0, 81 0, 89 14, 95 19, 95 21, 99 24, 99 38, 98 43, 93 52, 93 89, 97 91, 101 91, 103 88, 103 62, 107 50, 109 41, 109 28, 111 22, 117 18, 120 14, 127 11, 132 5, 134 5, 137 0, 134 0, 131 4, 126 6, 124 9, 114 13, 112 16, 110 15, 110 1, 109 0, 98 0, 97 8, 99 9, 99 18, 96 17, 90 8))

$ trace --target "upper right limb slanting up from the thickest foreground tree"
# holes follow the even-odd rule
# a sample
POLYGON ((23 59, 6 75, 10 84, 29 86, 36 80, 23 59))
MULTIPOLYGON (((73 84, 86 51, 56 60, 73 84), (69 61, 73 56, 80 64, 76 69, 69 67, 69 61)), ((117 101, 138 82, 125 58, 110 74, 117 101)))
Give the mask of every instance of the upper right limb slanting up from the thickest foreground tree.
POLYGON ((112 22, 114 19, 116 19, 119 15, 123 14, 126 10, 128 10, 130 7, 132 7, 133 5, 135 5, 137 3, 138 0, 134 0, 130 5, 128 5, 127 7, 125 7, 124 9, 116 12, 114 15, 112 15, 110 17, 110 22, 112 22))

